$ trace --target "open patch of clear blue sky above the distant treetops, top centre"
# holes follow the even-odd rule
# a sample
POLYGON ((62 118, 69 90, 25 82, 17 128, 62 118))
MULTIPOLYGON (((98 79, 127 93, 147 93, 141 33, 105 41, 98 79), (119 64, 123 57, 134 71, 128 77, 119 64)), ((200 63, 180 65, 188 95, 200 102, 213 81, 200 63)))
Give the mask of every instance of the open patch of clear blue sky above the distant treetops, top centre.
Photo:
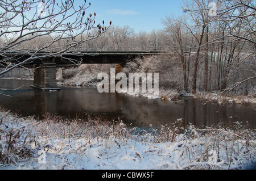
POLYGON ((105 20, 107 24, 112 20, 113 26, 127 25, 134 28, 135 32, 162 29, 161 19, 165 15, 183 13, 181 0, 90 0, 90 2, 91 6, 87 12, 96 12, 96 22, 105 20))

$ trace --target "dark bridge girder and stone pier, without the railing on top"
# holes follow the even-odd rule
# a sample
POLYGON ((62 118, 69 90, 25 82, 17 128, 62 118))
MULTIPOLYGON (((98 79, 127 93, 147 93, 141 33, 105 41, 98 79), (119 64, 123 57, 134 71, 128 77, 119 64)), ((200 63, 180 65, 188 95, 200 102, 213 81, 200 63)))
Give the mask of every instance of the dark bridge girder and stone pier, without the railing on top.
MULTIPOLYGON (((49 57, 46 52, 36 54, 38 58, 30 62, 24 63, 23 66, 34 67, 34 85, 32 87, 41 90, 60 90, 57 87, 56 67, 63 67, 76 64, 116 64, 116 73, 122 70, 121 64, 125 64, 129 60, 134 60, 139 56, 151 56, 159 54, 159 52, 80 52, 79 54, 65 54, 62 56, 49 57)), ((19 64, 28 60, 31 56, 28 53, 10 53, 10 60, 13 64, 19 64)), ((0 57, 0 60, 3 57, 0 57)), ((3 63, 4 64, 4 63, 3 63)), ((0 64, 3 65, 3 64, 0 64)), ((8 66, 10 62, 6 62, 8 66)))

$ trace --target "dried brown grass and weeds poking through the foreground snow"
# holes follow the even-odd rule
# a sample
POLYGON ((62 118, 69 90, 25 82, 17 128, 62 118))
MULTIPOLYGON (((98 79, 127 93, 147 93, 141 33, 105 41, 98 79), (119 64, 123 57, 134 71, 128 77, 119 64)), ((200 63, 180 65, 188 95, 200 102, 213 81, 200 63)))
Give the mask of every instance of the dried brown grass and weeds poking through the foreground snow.
MULTIPOLYGON (((42 149, 64 153, 65 148, 71 149, 76 140, 83 140, 84 144, 81 143, 80 149, 73 150, 72 153, 81 156, 86 156, 88 146, 105 145, 105 149, 98 155, 99 159, 102 154, 109 158, 112 146, 127 152, 126 145, 131 142, 134 142, 134 149, 138 143, 177 144, 179 160, 188 159, 189 163, 183 169, 220 169, 217 163, 228 168, 236 164, 241 169, 244 164, 253 164, 256 154, 255 130, 239 122, 230 122, 225 127, 217 125, 198 129, 194 125, 184 127, 183 120, 179 119, 174 124, 162 125, 159 129, 151 127, 150 131, 145 131, 128 128, 121 119, 113 121, 88 116, 86 120, 64 120, 59 116, 46 114, 43 120, 35 120, 32 117, 19 118, 3 110, 0 112, 0 164, 3 165, 11 163, 17 166, 24 160, 32 162, 42 149), (51 140, 59 140, 60 147, 51 145, 51 140)), ((139 151, 135 152, 135 157, 142 159, 139 151)), ((68 161, 60 167, 63 166, 69 167, 68 161)))

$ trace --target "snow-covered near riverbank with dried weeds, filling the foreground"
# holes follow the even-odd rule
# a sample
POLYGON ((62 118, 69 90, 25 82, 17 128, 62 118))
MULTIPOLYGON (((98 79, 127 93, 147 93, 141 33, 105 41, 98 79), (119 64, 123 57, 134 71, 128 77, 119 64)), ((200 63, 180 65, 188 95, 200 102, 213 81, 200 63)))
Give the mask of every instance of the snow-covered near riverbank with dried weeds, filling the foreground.
POLYGON ((151 132, 122 120, 43 120, 0 111, 0 169, 251 169, 256 134, 240 123, 229 128, 193 125, 151 132))

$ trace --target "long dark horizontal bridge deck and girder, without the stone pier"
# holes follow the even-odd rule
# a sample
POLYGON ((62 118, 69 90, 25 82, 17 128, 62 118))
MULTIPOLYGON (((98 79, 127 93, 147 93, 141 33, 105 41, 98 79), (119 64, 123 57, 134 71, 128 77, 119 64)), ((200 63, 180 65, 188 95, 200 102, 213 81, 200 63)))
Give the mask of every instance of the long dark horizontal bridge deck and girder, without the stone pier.
MULTIPOLYGON (((51 52, 51 54, 57 54, 57 52, 51 52)), ((42 64, 44 62, 55 63, 59 67, 70 64, 124 64, 134 57, 142 57, 154 54, 166 53, 164 51, 138 51, 138 52, 71 52, 64 53, 60 56, 51 56, 48 57, 48 52, 40 53, 24 53, 24 52, 15 52, 8 53, 5 56, 11 57, 11 61, 0 63, 0 67, 6 67, 10 62, 13 64, 19 64, 20 62, 27 60, 31 57, 37 57, 32 61, 26 62, 23 66, 29 68, 35 64, 42 64)), ((168 52, 171 53, 171 52, 168 52)), ((1 57, 0 57, 1 62, 1 57)))

